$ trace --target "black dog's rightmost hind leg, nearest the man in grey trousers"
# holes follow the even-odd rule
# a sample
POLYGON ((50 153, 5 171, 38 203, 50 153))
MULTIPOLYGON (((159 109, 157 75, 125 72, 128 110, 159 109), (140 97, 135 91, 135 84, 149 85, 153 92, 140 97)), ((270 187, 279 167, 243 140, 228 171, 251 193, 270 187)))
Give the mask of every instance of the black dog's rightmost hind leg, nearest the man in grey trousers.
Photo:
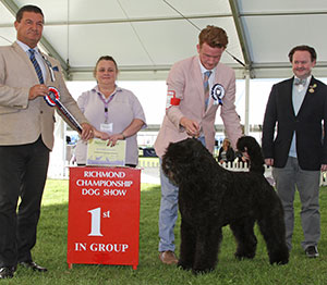
POLYGON ((282 209, 268 209, 258 221, 259 230, 266 240, 270 264, 289 262, 289 249, 286 244, 286 231, 282 209), (271 214, 275 213, 275 214, 271 214))

